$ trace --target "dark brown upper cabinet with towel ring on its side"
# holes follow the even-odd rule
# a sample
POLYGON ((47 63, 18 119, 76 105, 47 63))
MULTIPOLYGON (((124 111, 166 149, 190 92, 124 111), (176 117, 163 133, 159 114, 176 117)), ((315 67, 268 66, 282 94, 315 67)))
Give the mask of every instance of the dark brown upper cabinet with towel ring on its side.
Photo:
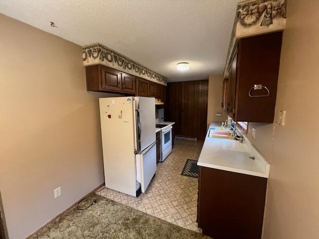
POLYGON ((282 32, 242 38, 224 80, 222 105, 235 121, 273 122, 282 32))

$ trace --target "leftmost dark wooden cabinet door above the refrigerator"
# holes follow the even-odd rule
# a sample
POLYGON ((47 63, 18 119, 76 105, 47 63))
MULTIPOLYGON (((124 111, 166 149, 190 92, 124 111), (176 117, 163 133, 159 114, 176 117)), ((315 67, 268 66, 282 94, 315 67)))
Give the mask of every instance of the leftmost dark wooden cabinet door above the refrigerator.
POLYGON ((101 66, 102 90, 121 91, 121 72, 101 66))

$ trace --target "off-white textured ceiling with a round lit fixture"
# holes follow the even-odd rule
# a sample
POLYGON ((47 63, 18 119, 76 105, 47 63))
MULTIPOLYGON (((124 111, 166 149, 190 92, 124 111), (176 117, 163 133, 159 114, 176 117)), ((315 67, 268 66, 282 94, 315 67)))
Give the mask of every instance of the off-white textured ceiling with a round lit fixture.
POLYGON ((82 46, 100 42, 171 82, 223 72, 238 1, 0 0, 0 12, 82 46), (177 71, 184 61, 190 69, 177 71))

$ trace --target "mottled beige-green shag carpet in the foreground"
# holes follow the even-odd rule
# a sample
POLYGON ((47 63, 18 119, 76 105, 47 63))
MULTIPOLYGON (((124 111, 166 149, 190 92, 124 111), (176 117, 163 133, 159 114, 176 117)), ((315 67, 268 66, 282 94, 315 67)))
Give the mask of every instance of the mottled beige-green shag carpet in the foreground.
POLYGON ((208 238, 134 208, 92 195, 81 207, 97 203, 87 210, 75 207, 65 212, 32 239, 200 239, 208 238))

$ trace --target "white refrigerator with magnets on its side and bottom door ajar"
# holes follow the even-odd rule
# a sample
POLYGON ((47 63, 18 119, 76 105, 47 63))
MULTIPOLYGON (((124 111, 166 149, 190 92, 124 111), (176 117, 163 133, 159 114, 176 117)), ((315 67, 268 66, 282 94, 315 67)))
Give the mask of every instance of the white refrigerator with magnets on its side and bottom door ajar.
POLYGON ((138 197, 156 173, 155 99, 100 98, 105 186, 138 197))

